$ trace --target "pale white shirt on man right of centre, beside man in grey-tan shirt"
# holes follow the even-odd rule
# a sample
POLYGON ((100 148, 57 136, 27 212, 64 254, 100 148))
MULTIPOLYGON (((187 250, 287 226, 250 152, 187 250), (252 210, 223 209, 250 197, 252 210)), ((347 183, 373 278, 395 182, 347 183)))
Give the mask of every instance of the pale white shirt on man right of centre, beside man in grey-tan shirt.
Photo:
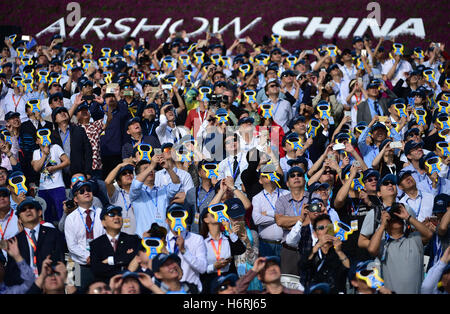
POLYGON ((289 194, 284 189, 275 189, 272 193, 262 190, 252 199, 252 218, 258 226, 258 234, 261 238, 270 241, 281 241, 283 229, 275 222, 275 204, 279 196, 289 194), (262 213, 266 212, 265 215, 262 213))

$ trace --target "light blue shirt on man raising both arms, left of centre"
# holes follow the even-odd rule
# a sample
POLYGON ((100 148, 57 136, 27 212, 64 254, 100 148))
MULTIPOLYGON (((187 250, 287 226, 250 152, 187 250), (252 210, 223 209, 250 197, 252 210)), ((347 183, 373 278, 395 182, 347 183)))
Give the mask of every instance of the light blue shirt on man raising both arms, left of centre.
POLYGON ((130 201, 133 204, 136 217, 136 234, 148 231, 156 222, 169 230, 166 223, 166 208, 170 199, 180 191, 181 184, 169 183, 161 187, 150 189, 143 182, 134 179, 130 187, 130 201))

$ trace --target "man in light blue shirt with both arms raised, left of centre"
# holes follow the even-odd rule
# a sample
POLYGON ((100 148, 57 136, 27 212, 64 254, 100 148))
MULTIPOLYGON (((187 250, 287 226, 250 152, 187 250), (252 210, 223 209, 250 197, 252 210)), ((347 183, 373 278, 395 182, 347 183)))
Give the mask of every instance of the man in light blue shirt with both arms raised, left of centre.
POLYGON ((172 168, 164 163, 171 182, 158 187, 155 185, 155 168, 162 164, 162 155, 155 155, 151 162, 141 160, 137 163, 130 187, 130 202, 133 204, 136 217, 136 234, 142 236, 153 223, 165 227, 166 208, 176 193, 180 190, 180 178, 172 168))

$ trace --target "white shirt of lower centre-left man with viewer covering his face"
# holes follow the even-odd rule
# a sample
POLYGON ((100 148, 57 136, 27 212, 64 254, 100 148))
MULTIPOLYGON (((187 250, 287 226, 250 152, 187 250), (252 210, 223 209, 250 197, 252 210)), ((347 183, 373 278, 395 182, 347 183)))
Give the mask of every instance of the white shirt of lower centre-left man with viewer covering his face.
MULTIPOLYGON (((206 257, 205 241, 201 235, 192 232, 183 232, 181 236, 184 238, 184 248, 186 252, 181 254, 177 252, 181 259, 181 269, 183 270, 183 277, 181 281, 187 281, 196 284, 199 291, 202 290, 202 283, 200 281, 200 274, 206 272, 208 265, 206 257)), ((166 236, 167 250, 174 253, 175 235, 169 232, 166 236)))

